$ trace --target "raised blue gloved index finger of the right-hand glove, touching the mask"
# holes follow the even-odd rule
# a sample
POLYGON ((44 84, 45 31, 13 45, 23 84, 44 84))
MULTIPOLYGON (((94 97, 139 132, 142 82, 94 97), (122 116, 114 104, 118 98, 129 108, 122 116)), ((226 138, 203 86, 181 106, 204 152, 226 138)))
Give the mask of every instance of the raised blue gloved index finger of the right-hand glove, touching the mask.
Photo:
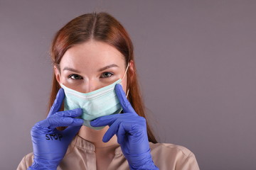
POLYGON ((117 94, 117 98, 119 99, 119 103, 121 104, 124 113, 136 113, 134 111, 134 108, 132 108, 131 103, 129 103, 129 101, 127 100, 127 97, 122 89, 122 86, 120 84, 116 84, 114 86, 114 90, 117 94))

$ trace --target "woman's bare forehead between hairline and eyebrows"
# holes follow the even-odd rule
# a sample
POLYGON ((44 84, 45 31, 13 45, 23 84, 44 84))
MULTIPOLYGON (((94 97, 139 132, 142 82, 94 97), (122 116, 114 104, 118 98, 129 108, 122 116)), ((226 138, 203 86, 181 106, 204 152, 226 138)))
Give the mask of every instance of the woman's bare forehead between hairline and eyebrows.
POLYGON ((95 40, 70 47, 60 60, 60 68, 73 67, 92 70, 105 67, 108 64, 124 67, 125 61, 122 53, 106 42, 95 40))

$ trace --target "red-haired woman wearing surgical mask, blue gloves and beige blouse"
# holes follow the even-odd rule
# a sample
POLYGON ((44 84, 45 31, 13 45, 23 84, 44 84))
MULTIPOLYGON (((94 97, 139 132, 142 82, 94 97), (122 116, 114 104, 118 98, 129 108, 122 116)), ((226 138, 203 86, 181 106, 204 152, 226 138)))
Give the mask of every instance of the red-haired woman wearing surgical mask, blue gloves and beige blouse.
POLYGON ((157 143, 146 123, 132 41, 110 14, 67 23, 51 57, 50 111, 33 126, 33 153, 18 169, 199 169, 185 147, 157 143))

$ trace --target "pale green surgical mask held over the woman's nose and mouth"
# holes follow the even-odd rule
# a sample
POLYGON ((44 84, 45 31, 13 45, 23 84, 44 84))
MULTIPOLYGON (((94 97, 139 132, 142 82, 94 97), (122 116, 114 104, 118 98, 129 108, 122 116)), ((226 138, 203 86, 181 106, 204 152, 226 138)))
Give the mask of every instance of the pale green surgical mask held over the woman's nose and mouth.
MULTIPOLYGON (((127 69, 128 67, 129 64, 127 65, 127 69)), ((124 76, 127 72, 127 69, 125 70, 124 76)), ((122 79, 123 78, 124 77, 122 77, 122 79)), ((121 113, 122 106, 120 105, 117 94, 114 91, 114 86, 116 84, 121 84, 122 79, 118 79, 113 84, 86 94, 80 93, 79 91, 75 91, 73 89, 69 89, 63 84, 60 84, 65 92, 64 111, 72 110, 75 108, 82 108, 83 113, 80 118, 84 120, 83 125, 95 130, 104 128, 105 126, 92 127, 90 125, 90 121, 104 115, 121 113)))

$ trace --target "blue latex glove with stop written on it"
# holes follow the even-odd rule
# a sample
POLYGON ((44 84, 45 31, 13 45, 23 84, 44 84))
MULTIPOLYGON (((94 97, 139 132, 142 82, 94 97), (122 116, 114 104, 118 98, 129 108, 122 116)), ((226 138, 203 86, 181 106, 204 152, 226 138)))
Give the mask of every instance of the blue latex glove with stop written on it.
POLYGON ((59 111, 65 97, 63 89, 58 91, 48 117, 36 123, 31 129, 33 142, 33 164, 28 169, 57 169, 67 152, 68 145, 80 130, 82 109, 59 111), (63 131, 57 127, 68 126, 63 131))

